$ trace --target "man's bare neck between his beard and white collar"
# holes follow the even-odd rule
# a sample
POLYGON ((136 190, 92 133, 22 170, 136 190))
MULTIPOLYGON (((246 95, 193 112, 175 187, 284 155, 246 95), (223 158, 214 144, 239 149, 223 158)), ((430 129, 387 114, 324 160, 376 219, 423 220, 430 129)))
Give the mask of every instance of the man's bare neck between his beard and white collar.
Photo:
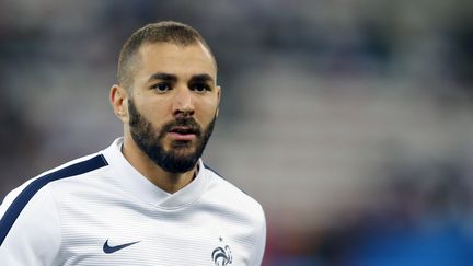
POLYGON ((122 152, 125 159, 152 184, 166 193, 173 194, 189 184, 197 174, 197 165, 185 173, 170 173, 157 165, 135 143, 130 136, 125 136, 122 152))

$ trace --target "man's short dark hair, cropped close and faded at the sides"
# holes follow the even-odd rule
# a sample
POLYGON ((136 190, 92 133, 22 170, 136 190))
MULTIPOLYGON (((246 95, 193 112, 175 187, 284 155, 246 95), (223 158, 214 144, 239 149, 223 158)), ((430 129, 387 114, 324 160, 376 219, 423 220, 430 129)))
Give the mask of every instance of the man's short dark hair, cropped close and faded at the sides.
POLYGON ((204 47, 210 53, 214 63, 214 54, 210 50, 204 37, 192 26, 175 22, 162 21, 158 23, 148 24, 128 37, 125 42, 118 58, 118 83, 126 90, 131 90, 134 83, 134 76, 136 73, 137 55, 138 50, 143 44, 154 43, 171 43, 177 46, 188 46, 194 44, 203 44, 204 47))

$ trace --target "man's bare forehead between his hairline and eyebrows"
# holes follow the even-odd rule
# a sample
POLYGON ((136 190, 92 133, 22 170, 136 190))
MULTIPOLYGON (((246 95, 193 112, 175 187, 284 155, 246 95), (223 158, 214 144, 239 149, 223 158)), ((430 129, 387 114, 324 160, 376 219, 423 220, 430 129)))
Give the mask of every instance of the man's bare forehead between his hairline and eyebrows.
MULTIPOLYGON (((181 46, 172 43, 143 44, 138 51, 137 76, 158 72, 176 76, 207 73, 216 78, 217 69, 210 51, 200 43, 181 46)), ((145 77, 143 77, 145 78, 145 77)))

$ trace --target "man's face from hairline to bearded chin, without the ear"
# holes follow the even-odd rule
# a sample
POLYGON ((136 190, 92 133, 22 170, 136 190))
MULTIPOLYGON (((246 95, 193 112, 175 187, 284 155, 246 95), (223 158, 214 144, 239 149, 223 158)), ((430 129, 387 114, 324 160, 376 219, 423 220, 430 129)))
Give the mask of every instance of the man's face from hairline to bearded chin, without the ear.
POLYGON ((140 148, 170 173, 192 170, 217 118, 216 66, 200 44, 145 44, 128 99, 128 128, 140 148))

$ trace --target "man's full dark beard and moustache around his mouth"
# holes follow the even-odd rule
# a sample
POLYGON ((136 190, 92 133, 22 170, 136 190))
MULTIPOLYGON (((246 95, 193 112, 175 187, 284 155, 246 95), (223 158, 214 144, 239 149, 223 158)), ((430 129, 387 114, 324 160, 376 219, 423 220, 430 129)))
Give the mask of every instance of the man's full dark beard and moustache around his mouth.
POLYGON ((138 112, 132 100, 128 100, 128 113, 131 138, 139 149, 158 166, 174 174, 188 172, 197 164, 217 119, 215 115, 204 130, 193 117, 178 117, 164 124, 160 129, 154 129, 152 124, 138 112), (172 141, 166 151, 164 138, 174 127, 191 128, 196 136, 195 148, 193 148, 194 141, 172 141))

